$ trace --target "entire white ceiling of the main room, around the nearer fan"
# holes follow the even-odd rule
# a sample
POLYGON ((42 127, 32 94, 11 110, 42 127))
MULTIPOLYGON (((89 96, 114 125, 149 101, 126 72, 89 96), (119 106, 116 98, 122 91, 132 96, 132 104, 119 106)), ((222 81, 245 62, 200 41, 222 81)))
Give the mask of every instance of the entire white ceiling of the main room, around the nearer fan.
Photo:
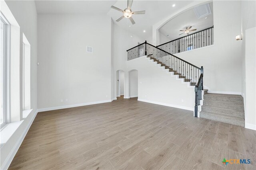
POLYGON ((134 25, 128 18, 116 22, 122 13, 110 8, 113 5, 124 10, 127 8, 126 0, 36 0, 36 9, 38 14, 108 14, 124 30, 150 41, 152 25, 190 3, 193 0, 134 0, 132 11, 146 10, 144 15, 132 16, 136 22, 134 25), (172 7, 173 4, 175 7, 172 7))

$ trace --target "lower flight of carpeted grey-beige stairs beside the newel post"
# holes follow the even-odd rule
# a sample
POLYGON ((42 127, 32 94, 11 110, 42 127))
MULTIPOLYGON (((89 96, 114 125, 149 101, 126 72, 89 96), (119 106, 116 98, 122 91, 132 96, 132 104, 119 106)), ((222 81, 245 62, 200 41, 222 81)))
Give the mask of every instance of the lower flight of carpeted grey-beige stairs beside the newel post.
POLYGON ((244 100, 241 95, 204 94, 200 117, 244 127, 244 100))

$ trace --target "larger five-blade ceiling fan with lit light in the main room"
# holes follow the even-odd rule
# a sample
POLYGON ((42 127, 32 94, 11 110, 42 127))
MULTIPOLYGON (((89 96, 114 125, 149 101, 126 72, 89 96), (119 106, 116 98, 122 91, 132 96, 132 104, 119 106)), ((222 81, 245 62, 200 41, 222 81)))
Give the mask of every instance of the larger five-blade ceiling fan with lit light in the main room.
POLYGON ((132 2, 133 2, 133 0, 128 0, 128 1, 127 1, 127 8, 124 9, 124 10, 121 10, 121 9, 119 9, 119 8, 116 8, 115 6, 111 6, 111 8, 113 8, 114 10, 118 10, 118 11, 124 13, 123 16, 121 16, 120 18, 118 18, 118 19, 116 20, 117 22, 119 22, 120 20, 122 20, 122 19, 125 17, 125 18, 129 18, 130 21, 132 22, 132 24, 135 24, 135 21, 132 19, 132 15, 133 15, 133 14, 145 14, 146 11, 136 11, 136 12, 132 12, 132 10, 131 10, 132 2))

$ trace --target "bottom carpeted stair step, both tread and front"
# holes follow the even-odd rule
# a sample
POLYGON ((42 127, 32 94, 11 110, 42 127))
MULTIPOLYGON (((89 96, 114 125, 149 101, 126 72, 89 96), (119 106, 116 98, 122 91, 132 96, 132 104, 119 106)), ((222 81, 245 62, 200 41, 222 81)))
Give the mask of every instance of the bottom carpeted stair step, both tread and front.
POLYGON ((244 118, 241 117, 235 117, 208 111, 200 111, 200 117, 244 127, 244 118))

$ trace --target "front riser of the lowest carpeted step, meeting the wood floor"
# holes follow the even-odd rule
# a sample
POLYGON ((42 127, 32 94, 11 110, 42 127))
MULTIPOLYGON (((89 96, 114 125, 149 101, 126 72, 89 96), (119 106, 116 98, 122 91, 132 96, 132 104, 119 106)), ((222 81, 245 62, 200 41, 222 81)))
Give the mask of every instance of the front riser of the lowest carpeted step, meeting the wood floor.
POLYGON ((212 116, 209 114, 200 114, 200 117, 244 127, 244 121, 237 121, 237 120, 235 120, 235 118, 232 118, 232 117, 230 117, 230 118, 215 117, 215 116, 212 116))

